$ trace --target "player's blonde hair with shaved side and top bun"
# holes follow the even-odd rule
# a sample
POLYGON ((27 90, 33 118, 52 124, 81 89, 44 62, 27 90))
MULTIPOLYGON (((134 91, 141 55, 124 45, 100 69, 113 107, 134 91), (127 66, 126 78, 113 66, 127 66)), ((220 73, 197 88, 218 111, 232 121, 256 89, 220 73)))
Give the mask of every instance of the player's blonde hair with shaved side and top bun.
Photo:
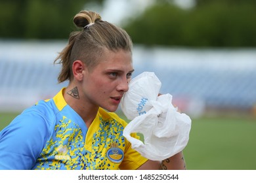
POLYGON ((54 60, 54 63, 62 64, 58 82, 73 79, 72 64, 77 59, 92 70, 100 62, 104 49, 132 52, 133 43, 126 31, 102 21, 100 14, 83 10, 74 16, 73 21, 81 31, 70 33, 68 45, 54 60))

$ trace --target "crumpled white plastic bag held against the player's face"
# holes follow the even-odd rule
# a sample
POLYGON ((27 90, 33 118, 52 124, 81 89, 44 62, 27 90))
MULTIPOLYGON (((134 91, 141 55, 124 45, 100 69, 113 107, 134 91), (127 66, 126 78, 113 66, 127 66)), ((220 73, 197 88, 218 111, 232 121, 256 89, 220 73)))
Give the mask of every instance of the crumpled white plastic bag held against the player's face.
POLYGON ((121 110, 131 120, 123 136, 142 156, 159 161, 185 148, 191 128, 190 117, 173 107, 169 93, 158 96, 160 88, 158 77, 144 72, 131 80, 121 100, 121 110), (131 133, 142 133, 144 142, 131 133))

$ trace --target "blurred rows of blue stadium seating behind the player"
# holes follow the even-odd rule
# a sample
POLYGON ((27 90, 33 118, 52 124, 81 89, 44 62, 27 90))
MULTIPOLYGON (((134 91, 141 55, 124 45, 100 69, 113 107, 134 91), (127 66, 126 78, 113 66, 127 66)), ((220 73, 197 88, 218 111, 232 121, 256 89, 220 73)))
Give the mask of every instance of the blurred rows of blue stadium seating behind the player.
MULTIPOLYGON (((66 86, 53 65, 66 42, 0 41, 0 110, 22 110, 66 86)), ((161 93, 179 108, 252 108, 256 104, 256 52, 253 49, 145 48, 133 52, 135 73, 156 73, 161 93)), ((190 109, 189 109, 190 108, 190 109)), ((196 110, 198 109, 198 110, 196 110)))

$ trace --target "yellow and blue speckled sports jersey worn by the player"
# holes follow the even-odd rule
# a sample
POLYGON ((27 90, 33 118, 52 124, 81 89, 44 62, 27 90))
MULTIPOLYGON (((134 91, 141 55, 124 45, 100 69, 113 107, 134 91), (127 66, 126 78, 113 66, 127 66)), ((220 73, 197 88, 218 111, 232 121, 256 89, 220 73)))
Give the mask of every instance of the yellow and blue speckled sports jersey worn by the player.
POLYGON ((147 161, 123 137, 124 120, 99 108, 88 129, 64 90, 0 132, 0 169, 137 169, 147 161))

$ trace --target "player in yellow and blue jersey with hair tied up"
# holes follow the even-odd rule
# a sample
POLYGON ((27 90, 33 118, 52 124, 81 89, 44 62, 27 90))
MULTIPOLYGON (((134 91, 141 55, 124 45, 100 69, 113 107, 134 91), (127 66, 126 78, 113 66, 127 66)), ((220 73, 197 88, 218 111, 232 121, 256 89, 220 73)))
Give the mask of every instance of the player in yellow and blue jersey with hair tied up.
POLYGON ((96 12, 81 11, 74 23, 81 31, 54 61, 68 86, 1 131, 0 169, 185 169, 182 152, 151 161, 122 135, 127 124, 113 112, 134 71, 129 35, 96 12))

